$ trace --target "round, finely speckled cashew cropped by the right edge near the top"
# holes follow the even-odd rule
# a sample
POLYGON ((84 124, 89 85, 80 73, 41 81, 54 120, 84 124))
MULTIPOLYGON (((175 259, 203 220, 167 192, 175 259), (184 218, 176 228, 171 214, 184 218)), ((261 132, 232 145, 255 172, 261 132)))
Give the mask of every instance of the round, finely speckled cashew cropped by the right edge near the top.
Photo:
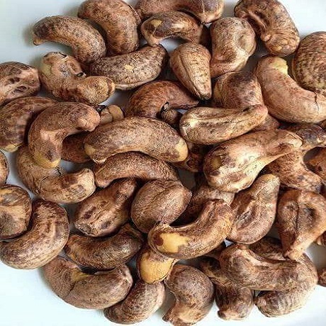
POLYGON ((294 79, 304 89, 326 96, 326 32, 315 32, 301 40, 292 60, 294 79))

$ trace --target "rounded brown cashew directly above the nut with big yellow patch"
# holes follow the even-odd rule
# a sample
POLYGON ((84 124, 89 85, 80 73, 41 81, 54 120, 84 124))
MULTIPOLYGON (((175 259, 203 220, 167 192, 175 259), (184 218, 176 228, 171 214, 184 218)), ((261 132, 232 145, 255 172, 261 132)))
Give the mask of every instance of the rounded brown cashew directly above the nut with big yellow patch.
POLYGON ((137 229, 148 233, 157 223, 173 223, 190 198, 191 191, 179 181, 150 181, 137 192, 130 215, 137 229))

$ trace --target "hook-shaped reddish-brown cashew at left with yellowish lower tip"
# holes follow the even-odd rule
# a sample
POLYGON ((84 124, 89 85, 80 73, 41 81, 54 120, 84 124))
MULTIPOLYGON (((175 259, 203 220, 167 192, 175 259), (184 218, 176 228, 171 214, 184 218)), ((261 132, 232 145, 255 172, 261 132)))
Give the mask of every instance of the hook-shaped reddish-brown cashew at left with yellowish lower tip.
POLYGON ((81 130, 92 131, 99 123, 99 113, 91 106, 73 102, 57 103, 40 113, 30 126, 30 154, 40 167, 55 168, 60 164, 64 138, 81 130))

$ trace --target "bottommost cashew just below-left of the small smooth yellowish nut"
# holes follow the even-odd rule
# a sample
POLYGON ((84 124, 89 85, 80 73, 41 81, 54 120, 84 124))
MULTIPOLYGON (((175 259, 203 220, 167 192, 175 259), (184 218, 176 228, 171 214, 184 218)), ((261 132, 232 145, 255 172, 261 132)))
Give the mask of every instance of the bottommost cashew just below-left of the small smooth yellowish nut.
POLYGON ((153 315, 163 304, 165 288, 163 283, 147 284, 137 281, 128 296, 120 303, 104 310, 111 322, 135 324, 153 315))

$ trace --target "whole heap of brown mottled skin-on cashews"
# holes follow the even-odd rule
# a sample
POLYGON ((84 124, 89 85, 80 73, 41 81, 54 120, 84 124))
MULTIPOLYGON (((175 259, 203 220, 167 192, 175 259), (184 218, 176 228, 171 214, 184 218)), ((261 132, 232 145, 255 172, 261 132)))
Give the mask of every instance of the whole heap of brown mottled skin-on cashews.
POLYGON ((62 300, 122 324, 150 317, 166 288, 175 301, 163 319, 184 326, 214 298, 225 320, 254 305, 274 317, 303 307, 318 279, 326 286, 305 254, 326 245, 326 32, 300 41, 277 0, 240 0, 228 18, 223 7, 87 0, 79 18, 33 28, 35 45, 63 43, 73 57, 0 64, 0 148, 17 151, 39 197, 6 184, 1 153, 4 264, 42 267, 62 300), (269 55, 242 71, 256 36, 269 55), (168 54, 160 43, 175 37, 184 43, 168 54), (294 79, 282 59, 292 53, 294 79), (168 65, 177 80, 164 79, 168 65), (35 96, 41 84, 51 98, 35 96), (115 89, 137 90, 123 110, 100 106, 115 89), (67 173, 62 159, 88 165, 67 173), (178 169, 195 174, 191 191, 178 169), (59 204, 72 203, 70 232, 59 204), (274 223, 280 240, 266 236, 274 223), (198 268, 184 262, 195 258, 198 268))

